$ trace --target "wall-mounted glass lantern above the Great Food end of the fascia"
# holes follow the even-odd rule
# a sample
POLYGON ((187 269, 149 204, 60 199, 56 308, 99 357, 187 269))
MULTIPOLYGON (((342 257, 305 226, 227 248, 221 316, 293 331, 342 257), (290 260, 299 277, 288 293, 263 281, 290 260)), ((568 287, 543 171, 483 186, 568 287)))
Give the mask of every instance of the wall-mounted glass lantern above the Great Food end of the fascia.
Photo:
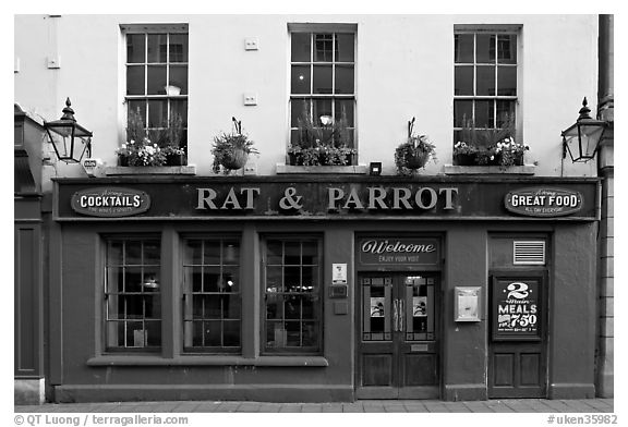
POLYGON ((563 131, 563 158, 571 157, 572 162, 587 162, 595 157, 600 141, 607 123, 591 118, 591 109, 587 107, 587 98, 582 100, 580 115, 576 123, 563 131))

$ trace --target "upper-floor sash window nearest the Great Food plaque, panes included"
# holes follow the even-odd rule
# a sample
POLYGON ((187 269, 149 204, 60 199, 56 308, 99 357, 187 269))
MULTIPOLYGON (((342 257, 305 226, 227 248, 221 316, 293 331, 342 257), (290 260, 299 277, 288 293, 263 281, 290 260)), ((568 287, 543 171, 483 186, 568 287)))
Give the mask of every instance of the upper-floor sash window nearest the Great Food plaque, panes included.
POLYGON ((515 28, 456 30, 454 144, 472 143, 466 141, 470 130, 486 146, 503 139, 509 129, 516 133, 517 39, 515 28))

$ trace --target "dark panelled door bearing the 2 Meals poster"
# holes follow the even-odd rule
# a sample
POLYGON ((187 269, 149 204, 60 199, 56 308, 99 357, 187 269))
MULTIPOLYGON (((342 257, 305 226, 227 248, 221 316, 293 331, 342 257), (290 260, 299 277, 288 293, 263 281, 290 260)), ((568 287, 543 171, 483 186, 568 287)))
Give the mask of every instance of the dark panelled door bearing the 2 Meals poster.
POLYGON ((488 398, 545 398, 546 279, 495 276, 491 292, 488 398))

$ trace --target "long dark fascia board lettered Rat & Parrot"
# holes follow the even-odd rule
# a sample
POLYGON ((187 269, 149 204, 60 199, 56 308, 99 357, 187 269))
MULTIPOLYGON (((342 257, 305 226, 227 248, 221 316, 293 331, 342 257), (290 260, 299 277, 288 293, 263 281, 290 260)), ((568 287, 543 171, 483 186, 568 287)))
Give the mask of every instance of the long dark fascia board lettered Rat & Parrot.
POLYGON ((599 219, 593 179, 454 180, 449 176, 92 178, 56 180, 58 220, 108 219, 599 219), (529 188, 547 194, 532 197, 529 188), (555 184, 555 185, 551 185, 555 184), (550 190, 553 194, 548 194, 550 190), (555 191, 554 188, 560 188, 555 191), (105 196, 120 193, 122 198, 105 196), (93 199, 81 198, 94 196, 93 199), (137 206, 136 196, 141 203, 137 206), (508 196, 507 196, 508 195, 508 196), (129 196, 129 199, 123 197, 129 196), (515 198, 515 196, 517 196, 515 198), (507 203, 505 204, 505 197, 507 203), (94 206, 88 200, 94 202, 94 206), (96 206, 114 200, 116 206, 96 206), (128 203, 129 200, 129 203, 128 203), (558 206, 560 205, 560 206, 558 206), (532 212, 530 211, 532 209, 532 212), (538 211, 540 210, 540 211, 538 211), (569 213, 569 212, 572 213, 569 213), (533 215, 533 216, 531 216, 533 215))

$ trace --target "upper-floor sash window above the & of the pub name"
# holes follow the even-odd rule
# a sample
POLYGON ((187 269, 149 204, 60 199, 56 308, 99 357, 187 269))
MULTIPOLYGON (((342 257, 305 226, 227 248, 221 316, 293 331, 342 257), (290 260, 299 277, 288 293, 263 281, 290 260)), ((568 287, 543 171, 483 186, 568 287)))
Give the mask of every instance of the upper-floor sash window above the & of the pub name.
POLYGON ((312 148, 318 139, 353 148, 357 26, 291 24, 289 29, 290 144, 312 148))

